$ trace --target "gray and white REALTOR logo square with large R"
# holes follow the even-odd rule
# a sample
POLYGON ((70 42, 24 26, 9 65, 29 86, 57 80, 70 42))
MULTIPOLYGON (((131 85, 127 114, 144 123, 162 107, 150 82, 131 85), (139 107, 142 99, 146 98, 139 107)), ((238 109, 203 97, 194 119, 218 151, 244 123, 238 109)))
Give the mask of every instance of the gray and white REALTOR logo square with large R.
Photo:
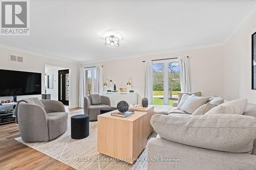
POLYGON ((1 1, 1 35, 29 35, 28 1, 1 1))

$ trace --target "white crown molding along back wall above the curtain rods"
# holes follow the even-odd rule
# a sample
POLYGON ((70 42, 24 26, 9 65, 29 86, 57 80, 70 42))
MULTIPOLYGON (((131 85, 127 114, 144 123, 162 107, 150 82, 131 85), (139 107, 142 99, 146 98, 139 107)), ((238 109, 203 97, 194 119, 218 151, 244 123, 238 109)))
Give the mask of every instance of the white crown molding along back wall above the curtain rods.
POLYGON ((113 57, 113 58, 102 59, 102 60, 83 61, 83 62, 80 62, 79 65, 96 63, 96 62, 98 63, 98 62, 104 62, 104 61, 112 61, 112 60, 121 60, 121 59, 127 59, 127 58, 146 57, 146 56, 152 56, 152 55, 175 53, 175 52, 188 51, 188 50, 196 50, 196 49, 199 49, 199 48, 209 48, 209 47, 223 46, 223 45, 224 45, 223 42, 210 43, 210 44, 205 44, 205 45, 197 45, 197 46, 189 46, 189 47, 183 47, 183 48, 176 48, 174 50, 167 50, 167 51, 158 51, 158 52, 152 52, 152 53, 142 53, 142 54, 129 55, 129 56, 120 56, 120 57, 113 57))

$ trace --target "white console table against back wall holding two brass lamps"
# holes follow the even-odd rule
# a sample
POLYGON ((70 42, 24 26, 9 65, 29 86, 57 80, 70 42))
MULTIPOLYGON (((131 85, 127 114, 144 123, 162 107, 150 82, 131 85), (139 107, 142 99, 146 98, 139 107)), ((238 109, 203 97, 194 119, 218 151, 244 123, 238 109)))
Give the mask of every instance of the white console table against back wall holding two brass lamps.
POLYGON ((110 98, 111 107, 116 107, 120 101, 125 101, 133 105, 138 104, 136 92, 102 92, 102 95, 110 98))

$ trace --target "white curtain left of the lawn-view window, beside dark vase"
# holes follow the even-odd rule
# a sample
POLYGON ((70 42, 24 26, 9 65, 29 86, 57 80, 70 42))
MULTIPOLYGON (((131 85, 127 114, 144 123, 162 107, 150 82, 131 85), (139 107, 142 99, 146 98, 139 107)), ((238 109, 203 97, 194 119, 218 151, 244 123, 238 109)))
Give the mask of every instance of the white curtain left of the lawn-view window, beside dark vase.
POLYGON ((152 61, 145 61, 145 98, 148 104, 153 103, 153 76, 152 76, 152 61))

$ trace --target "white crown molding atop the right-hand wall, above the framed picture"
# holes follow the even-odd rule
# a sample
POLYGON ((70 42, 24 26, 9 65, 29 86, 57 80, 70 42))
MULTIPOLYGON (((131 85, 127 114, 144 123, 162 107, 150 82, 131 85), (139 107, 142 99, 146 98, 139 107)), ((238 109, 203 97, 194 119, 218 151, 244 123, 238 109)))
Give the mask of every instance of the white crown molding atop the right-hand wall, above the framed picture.
POLYGON ((223 44, 226 44, 227 41, 238 31, 238 29, 243 25, 247 18, 256 10, 256 0, 253 0, 251 4, 246 8, 243 14, 238 18, 238 21, 230 34, 224 40, 223 44))

